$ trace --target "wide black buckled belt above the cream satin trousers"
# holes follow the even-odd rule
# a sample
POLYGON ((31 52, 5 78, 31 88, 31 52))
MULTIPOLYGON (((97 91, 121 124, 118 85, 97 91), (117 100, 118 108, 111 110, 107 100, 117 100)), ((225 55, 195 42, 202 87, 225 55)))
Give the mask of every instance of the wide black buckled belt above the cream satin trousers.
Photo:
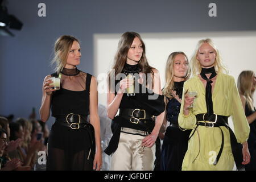
POLYGON ((119 117, 143 126, 146 131, 150 130, 149 123, 152 124, 152 121, 155 121, 155 116, 146 113, 143 109, 120 109, 119 117))

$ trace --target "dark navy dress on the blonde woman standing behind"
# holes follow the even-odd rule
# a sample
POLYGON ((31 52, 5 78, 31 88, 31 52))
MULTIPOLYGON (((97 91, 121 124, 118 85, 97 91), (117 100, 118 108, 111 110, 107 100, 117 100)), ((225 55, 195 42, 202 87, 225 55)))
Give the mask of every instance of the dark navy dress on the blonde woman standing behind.
MULTIPOLYGON (((174 82, 176 93, 182 96, 183 84, 182 82, 174 82), (179 88, 177 88, 179 87, 179 88), (179 93, 178 90, 180 90, 179 93)), ((166 119, 170 122, 164 135, 161 164, 162 171, 181 171, 182 162, 188 148, 188 137, 191 130, 182 131, 179 129, 178 116, 180 113, 180 102, 176 98, 168 99, 166 106, 166 119)))

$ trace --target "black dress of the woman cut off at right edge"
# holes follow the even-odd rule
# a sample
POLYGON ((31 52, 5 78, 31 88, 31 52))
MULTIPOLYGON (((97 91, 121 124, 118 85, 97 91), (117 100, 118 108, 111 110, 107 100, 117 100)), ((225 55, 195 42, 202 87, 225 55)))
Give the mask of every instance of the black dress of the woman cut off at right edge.
MULTIPOLYGON (((248 104, 245 104, 246 117, 256 112, 256 109, 250 110, 248 104)), ((251 155, 251 162, 245 165, 246 171, 256 171, 256 120, 250 123, 250 135, 247 140, 248 148, 251 155)))

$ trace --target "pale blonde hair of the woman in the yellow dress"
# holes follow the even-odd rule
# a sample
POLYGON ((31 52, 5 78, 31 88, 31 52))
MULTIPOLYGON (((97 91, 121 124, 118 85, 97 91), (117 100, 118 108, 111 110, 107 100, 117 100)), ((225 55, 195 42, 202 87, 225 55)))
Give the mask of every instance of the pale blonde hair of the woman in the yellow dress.
POLYGON ((192 75, 196 76, 197 74, 199 74, 201 72, 202 68, 201 68, 200 62, 199 62, 199 60, 197 60, 196 56, 199 51, 199 48, 204 43, 208 43, 210 46, 212 46, 212 48, 216 52, 216 57, 215 57, 215 61, 214 61, 214 69, 215 69, 216 73, 228 73, 228 70, 225 68, 225 66, 222 63, 220 52, 218 51, 217 46, 212 42, 211 39, 202 39, 202 40, 199 40, 199 42, 197 43, 195 52, 193 53, 193 56, 191 58, 192 75))

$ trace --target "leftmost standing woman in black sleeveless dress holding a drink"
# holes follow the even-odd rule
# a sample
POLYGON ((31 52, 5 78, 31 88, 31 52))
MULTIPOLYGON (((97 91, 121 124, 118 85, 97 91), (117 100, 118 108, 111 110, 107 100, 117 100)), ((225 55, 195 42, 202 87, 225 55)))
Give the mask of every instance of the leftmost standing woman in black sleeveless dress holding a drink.
POLYGON ((49 118, 50 108, 56 118, 49 135, 47 170, 100 170, 96 78, 77 69, 81 52, 76 38, 61 36, 55 43, 55 55, 56 72, 44 79, 40 107, 42 121, 49 118), (52 76, 61 77, 59 90, 49 87, 52 76))

